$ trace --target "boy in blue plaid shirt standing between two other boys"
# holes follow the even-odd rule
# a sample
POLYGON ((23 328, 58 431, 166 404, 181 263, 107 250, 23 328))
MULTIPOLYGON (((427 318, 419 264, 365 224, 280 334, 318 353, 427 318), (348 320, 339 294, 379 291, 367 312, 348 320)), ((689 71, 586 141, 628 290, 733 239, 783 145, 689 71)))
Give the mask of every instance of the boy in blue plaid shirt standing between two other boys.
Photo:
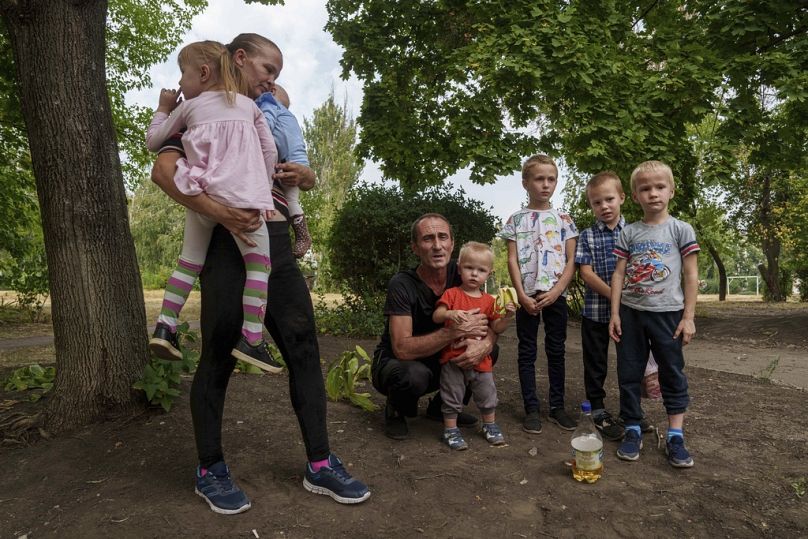
POLYGON ((581 318, 581 345, 584 356, 584 388, 592 403, 595 426, 608 440, 620 440, 623 427, 606 410, 603 399, 609 354, 609 315, 611 288, 617 257, 612 253, 625 225, 620 206, 626 199, 620 178, 611 171, 595 174, 586 184, 586 197, 597 218, 581 232, 575 263, 586 284, 581 318))

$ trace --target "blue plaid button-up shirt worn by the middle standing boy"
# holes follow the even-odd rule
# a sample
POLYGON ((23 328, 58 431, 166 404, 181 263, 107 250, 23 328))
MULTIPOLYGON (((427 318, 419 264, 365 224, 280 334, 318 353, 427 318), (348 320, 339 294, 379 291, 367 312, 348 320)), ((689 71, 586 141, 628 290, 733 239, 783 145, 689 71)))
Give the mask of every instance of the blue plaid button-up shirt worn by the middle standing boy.
MULTIPOLYGON (((617 266, 617 257, 612 253, 615 242, 620 237, 620 232, 625 226, 626 220, 620 216, 620 221, 614 230, 609 230, 602 221, 598 221, 591 227, 581 232, 578 238, 578 246, 575 249, 575 263, 592 266, 595 274, 603 279, 607 285, 611 284, 612 273, 617 266)), ((605 298, 586 287, 584 294, 583 316, 601 323, 607 323, 611 317, 611 300, 605 298)))

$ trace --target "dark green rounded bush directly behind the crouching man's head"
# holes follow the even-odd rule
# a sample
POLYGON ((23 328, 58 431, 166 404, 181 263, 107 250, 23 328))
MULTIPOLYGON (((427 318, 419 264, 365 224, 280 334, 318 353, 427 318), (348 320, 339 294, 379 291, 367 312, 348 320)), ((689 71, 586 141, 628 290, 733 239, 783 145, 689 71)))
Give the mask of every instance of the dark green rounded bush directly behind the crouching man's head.
POLYGON ((457 249, 470 240, 489 242, 496 232, 496 218, 462 189, 410 192, 360 184, 348 194, 331 230, 332 277, 356 294, 383 294, 397 271, 417 265, 412 223, 429 212, 449 220, 457 249))

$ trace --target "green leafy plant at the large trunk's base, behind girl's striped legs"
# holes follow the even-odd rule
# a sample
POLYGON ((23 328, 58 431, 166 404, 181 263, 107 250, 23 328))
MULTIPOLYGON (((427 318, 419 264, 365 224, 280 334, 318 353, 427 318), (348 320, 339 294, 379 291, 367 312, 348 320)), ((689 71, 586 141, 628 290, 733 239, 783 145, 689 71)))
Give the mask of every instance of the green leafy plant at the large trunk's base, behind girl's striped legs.
POLYGON ((152 356, 143 369, 143 376, 132 384, 134 389, 146 394, 146 400, 150 404, 161 406, 166 412, 171 410, 174 401, 180 396, 180 376, 183 373, 193 372, 199 363, 199 354, 184 346, 186 342, 197 340, 196 333, 189 331, 187 322, 177 326, 177 338, 182 359, 168 361, 152 356))

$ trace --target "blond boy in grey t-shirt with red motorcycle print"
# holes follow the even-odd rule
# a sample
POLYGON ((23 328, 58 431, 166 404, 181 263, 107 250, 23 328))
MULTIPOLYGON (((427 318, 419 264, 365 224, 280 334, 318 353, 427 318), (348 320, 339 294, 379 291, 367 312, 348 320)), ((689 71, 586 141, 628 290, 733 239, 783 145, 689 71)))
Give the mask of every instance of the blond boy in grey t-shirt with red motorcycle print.
POLYGON ((693 227, 668 214, 673 193, 673 173, 665 163, 646 161, 631 173, 631 198, 642 206, 643 218, 623 228, 614 248, 609 335, 617 343, 620 416, 626 431, 618 458, 640 458, 640 386, 650 348, 668 413, 668 462, 689 468, 693 459, 682 432, 689 402, 682 346, 696 333, 700 249, 693 227))

